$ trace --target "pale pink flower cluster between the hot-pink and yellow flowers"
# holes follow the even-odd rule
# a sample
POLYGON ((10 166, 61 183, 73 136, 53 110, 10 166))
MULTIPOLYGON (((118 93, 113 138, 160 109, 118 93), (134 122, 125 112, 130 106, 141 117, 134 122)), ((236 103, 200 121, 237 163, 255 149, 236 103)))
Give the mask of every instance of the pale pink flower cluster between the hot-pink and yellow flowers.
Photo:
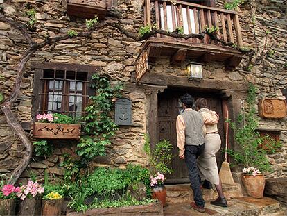
POLYGON ((22 185, 20 188, 20 191, 17 192, 17 197, 19 197, 21 200, 24 200, 26 197, 36 197, 37 194, 44 193, 44 188, 42 185, 37 183, 37 181, 28 181, 28 184, 22 185))

